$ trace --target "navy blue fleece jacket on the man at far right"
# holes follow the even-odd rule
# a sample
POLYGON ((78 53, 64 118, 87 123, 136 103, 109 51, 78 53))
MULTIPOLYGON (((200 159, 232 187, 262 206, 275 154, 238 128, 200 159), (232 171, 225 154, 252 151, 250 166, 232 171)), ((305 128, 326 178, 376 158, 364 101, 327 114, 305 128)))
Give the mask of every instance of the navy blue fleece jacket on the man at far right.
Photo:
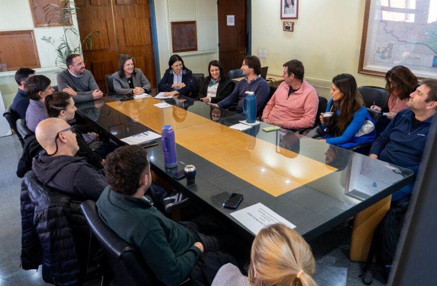
MULTIPOLYGON (((414 112, 409 108, 399 111, 373 143, 370 154, 377 155, 379 160, 407 168, 415 176, 434 116, 418 122, 414 128, 413 116, 414 112)), ((395 192, 392 201, 410 196, 412 189, 413 184, 410 184, 395 192)))

